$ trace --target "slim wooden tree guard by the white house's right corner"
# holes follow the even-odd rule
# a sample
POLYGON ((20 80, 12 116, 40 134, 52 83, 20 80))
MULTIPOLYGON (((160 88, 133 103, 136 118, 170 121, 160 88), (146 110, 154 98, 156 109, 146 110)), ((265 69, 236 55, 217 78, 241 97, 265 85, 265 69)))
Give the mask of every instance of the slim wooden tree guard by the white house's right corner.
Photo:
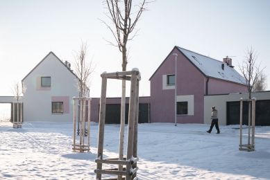
POLYGON ((89 152, 90 151, 90 110, 91 110, 91 98, 72 98, 74 100, 74 109, 73 109, 73 145, 72 145, 72 150, 74 152, 89 152), (80 131, 79 133, 79 143, 76 144, 76 100, 78 100, 80 104, 80 108, 78 111, 78 129, 80 131), (88 101, 88 118, 87 118, 87 144, 85 144, 85 111, 87 108, 86 105, 86 100, 88 101))

